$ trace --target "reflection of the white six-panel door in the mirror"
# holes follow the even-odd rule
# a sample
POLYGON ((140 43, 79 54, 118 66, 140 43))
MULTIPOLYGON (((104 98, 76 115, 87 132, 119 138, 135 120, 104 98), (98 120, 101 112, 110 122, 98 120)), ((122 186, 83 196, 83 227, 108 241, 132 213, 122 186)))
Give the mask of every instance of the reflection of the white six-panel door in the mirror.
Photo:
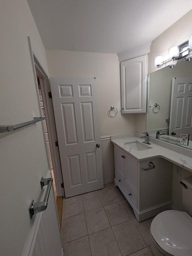
POLYGON ((173 78, 169 133, 192 136, 192 77, 173 78))

